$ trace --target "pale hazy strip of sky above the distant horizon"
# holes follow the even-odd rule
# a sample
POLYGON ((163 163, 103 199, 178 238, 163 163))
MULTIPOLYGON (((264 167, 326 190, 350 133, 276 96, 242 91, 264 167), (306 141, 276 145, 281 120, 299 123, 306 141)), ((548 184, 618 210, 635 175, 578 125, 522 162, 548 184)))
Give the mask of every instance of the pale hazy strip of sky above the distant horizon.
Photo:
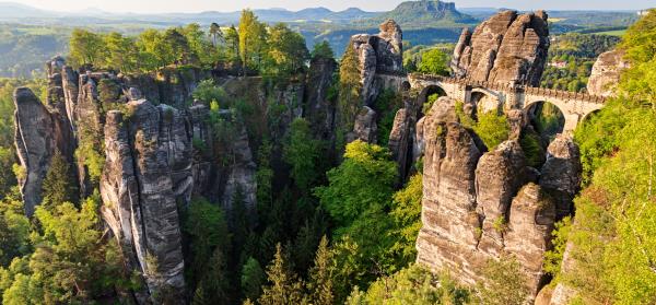
MULTIPOLYGON (((387 11, 402 0, 13 0, 13 2, 57 11, 98 8, 110 12, 161 13, 236 11, 244 8, 301 10, 314 7, 326 7, 331 10, 356 7, 366 11, 387 11)), ((458 8, 503 7, 518 10, 639 10, 656 7, 656 0, 452 0, 452 2, 456 2, 458 8)))

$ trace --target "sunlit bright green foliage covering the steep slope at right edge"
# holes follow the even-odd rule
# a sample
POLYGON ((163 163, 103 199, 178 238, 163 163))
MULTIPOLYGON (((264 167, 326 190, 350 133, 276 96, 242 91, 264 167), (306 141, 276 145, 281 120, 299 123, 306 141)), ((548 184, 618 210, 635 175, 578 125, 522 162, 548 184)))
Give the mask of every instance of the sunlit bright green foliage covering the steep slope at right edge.
POLYGON ((622 47, 632 68, 619 97, 575 132, 588 185, 575 200, 573 224, 559 231, 573 263, 557 279, 578 291, 581 303, 656 302, 655 34, 654 11, 628 31, 622 47))

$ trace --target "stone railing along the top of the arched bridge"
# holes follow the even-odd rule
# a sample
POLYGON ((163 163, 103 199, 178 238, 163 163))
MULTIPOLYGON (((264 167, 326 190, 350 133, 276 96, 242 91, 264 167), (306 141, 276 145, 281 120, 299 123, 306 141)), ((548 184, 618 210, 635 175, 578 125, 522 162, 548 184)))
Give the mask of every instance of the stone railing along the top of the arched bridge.
POLYGON ((441 77, 425 73, 411 73, 410 77, 415 80, 423 81, 434 81, 442 83, 450 83, 450 84, 461 84, 471 87, 484 87, 488 90, 495 91, 504 91, 504 92, 520 92, 523 91, 525 94, 530 95, 541 95, 550 98, 562 98, 562 99, 576 99, 586 103, 595 103, 595 104, 605 104, 606 97, 591 95, 588 93, 582 92, 570 92, 563 90, 554 90, 554 89, 546 89, 546 87, 535 87, 527 85, 513 85, 509 83, 496 83, 496 82, 488 82, 488 81, 478 81, 471 79, 457 79, 450 77, 441 77))

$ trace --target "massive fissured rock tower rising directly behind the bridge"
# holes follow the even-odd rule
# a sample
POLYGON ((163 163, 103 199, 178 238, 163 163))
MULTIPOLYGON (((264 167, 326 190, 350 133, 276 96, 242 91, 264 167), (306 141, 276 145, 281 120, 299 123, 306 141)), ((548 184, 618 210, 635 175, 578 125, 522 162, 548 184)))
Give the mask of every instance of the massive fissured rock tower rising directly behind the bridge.
POLYGON ((547 13, 504 11, 465 28, 450 67, 458 78, 538 86, 549 50, 547 13))

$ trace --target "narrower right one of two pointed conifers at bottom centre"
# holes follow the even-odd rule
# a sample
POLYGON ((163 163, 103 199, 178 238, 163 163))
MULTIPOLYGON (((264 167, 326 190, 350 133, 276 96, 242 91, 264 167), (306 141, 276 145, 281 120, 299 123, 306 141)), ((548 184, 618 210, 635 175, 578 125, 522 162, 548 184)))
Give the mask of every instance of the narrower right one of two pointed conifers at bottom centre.
POLYGON ((314 267, 309 270, 307 290, 314 305, 331 305, 335 301, 332 294, 332 272, 330 263, 332 256, 328 249, 328 238, 324 235, 317 249, 314 267))

